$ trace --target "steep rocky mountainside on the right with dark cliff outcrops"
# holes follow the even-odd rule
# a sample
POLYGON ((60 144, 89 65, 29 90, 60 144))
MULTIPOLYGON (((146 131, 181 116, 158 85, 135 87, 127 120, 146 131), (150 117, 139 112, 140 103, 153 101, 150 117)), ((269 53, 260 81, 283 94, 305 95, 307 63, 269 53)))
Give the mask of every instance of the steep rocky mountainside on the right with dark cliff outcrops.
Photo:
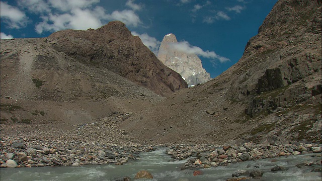
POLYGON ((235 65, 120 128, 152 142, 321 142, 321 51, 321 1, 278 1, 235 65))

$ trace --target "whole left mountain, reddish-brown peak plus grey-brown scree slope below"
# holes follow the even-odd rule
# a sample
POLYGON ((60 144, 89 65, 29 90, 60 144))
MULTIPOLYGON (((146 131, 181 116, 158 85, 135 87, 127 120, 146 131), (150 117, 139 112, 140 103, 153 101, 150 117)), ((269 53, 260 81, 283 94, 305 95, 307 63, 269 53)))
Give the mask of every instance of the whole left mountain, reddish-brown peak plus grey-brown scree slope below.
POLYGON ((144 109, 184 87, 121 22, 1 40, 4 124, 92 123, 144 109))

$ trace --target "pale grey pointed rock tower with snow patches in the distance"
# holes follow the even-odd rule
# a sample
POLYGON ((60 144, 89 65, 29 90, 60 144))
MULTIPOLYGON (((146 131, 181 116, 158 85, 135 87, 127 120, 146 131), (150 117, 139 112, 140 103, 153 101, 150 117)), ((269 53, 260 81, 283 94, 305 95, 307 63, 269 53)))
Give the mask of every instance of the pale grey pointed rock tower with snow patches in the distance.
POLYGON ((202 67, 201 60, 194 53, 186 53, 174 48, 178 43, 174 34, 167 34, 159 47, 157 58, 166 66, 178 72, 189 86, 210 80, 210 74, 202 67))

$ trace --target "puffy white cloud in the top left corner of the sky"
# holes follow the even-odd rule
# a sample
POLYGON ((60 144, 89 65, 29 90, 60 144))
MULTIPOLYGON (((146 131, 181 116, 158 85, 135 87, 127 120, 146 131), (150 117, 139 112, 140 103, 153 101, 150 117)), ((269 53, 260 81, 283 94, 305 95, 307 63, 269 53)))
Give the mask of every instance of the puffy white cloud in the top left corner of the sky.
POLYGON ((25 13, 2 1, 0 1, 0 17, 9 25, 9 28, 23 28, 28 23, 25 13))

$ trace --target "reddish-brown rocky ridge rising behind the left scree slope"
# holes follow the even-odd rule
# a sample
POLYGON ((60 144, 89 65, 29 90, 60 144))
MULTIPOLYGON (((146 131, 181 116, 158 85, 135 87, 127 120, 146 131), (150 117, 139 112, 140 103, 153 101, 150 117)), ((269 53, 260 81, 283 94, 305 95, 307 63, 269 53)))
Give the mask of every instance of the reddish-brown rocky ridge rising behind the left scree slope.
POLYGON ((159 95, 169 96, 187 87, 181 76, 158 61, 122 22, 110 22, 97 30, 59 31, 49 38, 55 39, 55 50, 85 64, 105 67, 159 95))

